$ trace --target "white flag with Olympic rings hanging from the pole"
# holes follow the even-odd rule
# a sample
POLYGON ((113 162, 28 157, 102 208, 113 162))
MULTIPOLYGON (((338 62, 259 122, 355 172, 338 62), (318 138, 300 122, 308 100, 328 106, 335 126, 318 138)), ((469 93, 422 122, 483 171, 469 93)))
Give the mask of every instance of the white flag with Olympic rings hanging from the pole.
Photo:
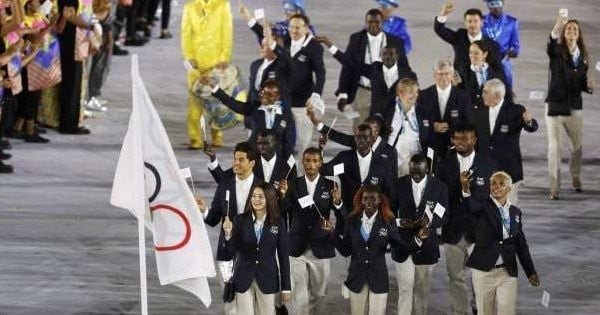
POLYGON ((171 142, 132 58, 133 106, 110 203, 144 219, 152 231, 161 285, 196 295, 206 307, 215 266, 204 220, 179 173, 171 142))

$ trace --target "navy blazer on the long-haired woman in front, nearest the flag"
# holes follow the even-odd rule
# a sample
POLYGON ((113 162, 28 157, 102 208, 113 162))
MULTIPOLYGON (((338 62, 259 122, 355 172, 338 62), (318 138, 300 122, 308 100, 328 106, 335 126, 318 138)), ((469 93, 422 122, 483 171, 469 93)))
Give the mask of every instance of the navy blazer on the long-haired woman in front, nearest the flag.
POLYGON ((265 220, 259 242, 252 213, 244 213, 235 220, 232 237, 225 247, 230 259, 237 254, 233 275, 236 292, 248 291, 254 280, 264 294, 291 290, 289 244, 283 218, 276 225, 265 220))

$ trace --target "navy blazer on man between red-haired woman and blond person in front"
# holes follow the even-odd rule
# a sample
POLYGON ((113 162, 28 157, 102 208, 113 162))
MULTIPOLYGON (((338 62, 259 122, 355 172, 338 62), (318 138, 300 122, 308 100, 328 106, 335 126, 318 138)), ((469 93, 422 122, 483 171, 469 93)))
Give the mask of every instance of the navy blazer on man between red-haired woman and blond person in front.
MULTIPOLYGON (((425 179, 424 179, 425 180, 425 179)), ((429 205, 433 219, 431 221, 431 234, 429 238, 423 240, 423 244, 419 251, 412 254, 412 259, 415 265, 433 265, 437 263, 440 257, 439 240, 435 230, 442 226, 446 219, 446 215, 439 217, 433 213, 436 204, 440 204, 446 210, 448 209, 448 187, 442 181, 435 177, 427 176, 425 191, 421 197, 421 203, 415 205, 415 198, 412 192, 412 180, 409 175, 400 177, 395 180, 394 187, 396 193, 392 198, 396 199, 398 208, 396 217, 399 219, 417 220, 426 217, 425 207, 429 205)), ((399 226, 400 235, 406 241, 414 239, 419 229, 407 229, 399 226)), ((396 248, 392 250, 392 259, 396 262, 404 262, 408 258, 409 253, 396 248)))

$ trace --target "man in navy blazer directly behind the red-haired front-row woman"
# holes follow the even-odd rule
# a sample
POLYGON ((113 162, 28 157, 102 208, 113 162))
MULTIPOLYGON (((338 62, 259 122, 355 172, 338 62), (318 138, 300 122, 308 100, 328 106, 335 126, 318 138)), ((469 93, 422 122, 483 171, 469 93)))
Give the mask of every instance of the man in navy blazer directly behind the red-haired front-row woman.
POLYGON ((389 196, 393 193, 393 167, 388 160, 373 154, 371 127, 367 124, 358 125, 354 133, 354 142, 356 149, 338 153, 323 165, 321 174, 339 176, 342 200, 346 205, 352 205, 354 194, 368 183, 380 186, 383 193, 389 196))

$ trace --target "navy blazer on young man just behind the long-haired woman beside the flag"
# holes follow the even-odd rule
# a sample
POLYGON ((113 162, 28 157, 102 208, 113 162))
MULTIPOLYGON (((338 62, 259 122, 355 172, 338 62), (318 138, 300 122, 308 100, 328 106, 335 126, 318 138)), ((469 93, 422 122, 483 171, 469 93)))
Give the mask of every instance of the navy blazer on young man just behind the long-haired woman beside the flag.
MULTIPOLYGON (((252 186, 258 184, 262 180, 254 177, 254 181, 252 182, 252 186)), ((252 194, 252 192, 250 192, 252 194)), ((250 194, 246 199, 246 205, 250 202, 250 194)), ((244 207, 245 208, 245 207, 244 207)), ((235 190, 235 174, 230 173, 223 176, 221 182, 217 186, 217 191, 215 192, 215 196, 210 205, 210 210, 208 210, 208 215, 204 219, 204 222, 210 226, 216 226, 219 223, 223 223, 226 216, 229 216, 231 221, 234 221, 238 216, 239 212, 243 212, 244 210, 238 211, 237 208, 237 197, 235 190), (229 190, 229 202, 225 200, 226 191, 229 190)), ((223 234, 223 229, 221 229, 221 233, 219 234, 219 245, 217 247, 217 260, 227 261, 231 260, 231 257, 227 254, 225 250, 225 237, 223 234)))

